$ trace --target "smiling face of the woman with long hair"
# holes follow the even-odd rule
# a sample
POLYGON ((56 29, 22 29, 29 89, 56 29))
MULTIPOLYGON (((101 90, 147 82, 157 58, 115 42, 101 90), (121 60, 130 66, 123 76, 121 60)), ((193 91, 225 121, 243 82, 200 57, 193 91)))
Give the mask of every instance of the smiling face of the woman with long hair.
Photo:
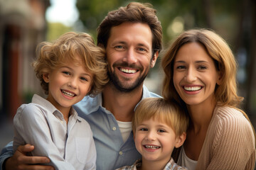
POLYGON ((174 86, 182 100, 190 106, 213 102, 216 84, 220 74, 203 45, 183 45, 174 60, 174 86))

